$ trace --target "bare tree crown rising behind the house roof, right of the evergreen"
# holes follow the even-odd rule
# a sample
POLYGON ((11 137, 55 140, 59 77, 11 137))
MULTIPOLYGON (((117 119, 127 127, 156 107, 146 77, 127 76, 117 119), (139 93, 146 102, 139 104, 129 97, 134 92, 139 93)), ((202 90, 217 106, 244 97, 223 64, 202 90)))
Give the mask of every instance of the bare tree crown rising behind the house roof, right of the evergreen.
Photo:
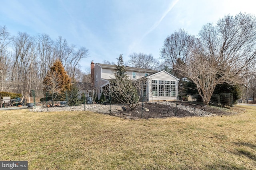
POLYGON ((132 67, 159 70, 159 61, 152 54, 132 53, 129 58, 128 64, 132 67))

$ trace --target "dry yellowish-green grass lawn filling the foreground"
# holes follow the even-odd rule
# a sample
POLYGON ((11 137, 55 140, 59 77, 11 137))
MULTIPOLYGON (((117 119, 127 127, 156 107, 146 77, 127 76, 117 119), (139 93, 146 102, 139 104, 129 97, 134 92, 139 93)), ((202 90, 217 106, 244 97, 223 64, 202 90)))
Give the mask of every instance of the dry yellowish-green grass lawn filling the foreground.
POLYGON ((128 120, 0 111, 0 160, 43 169, 255 169, 256 107, 230 116, 128 120))

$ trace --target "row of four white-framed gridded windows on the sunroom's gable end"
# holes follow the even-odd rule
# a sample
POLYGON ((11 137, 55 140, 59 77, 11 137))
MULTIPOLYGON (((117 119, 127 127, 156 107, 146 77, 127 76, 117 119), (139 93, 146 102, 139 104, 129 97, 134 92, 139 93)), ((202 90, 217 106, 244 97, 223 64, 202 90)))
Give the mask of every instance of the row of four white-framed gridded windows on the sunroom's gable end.
POLYGON ((176 96, 176 82, 152 80, 152 96, 176 96))

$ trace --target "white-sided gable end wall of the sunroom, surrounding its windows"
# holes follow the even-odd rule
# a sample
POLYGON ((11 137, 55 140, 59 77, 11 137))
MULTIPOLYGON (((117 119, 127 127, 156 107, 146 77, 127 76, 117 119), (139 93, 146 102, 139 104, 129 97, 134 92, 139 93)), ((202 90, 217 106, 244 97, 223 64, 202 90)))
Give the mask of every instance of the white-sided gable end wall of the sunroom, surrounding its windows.
MULTIPOLYGON (((171 84, 170 84, 170 89, 171 89, 171 84)), ((162 100, 177 100, 178 98, 178 79, 175 78, 174 76, 168 74, 167 72, 161 71, 159 73, 153 74, 148 77, 148 101, 162 101, 162 100), (153 96, 153 90, 152 90, 152 80, 157 80, 158 81, 158 94, 157 96, 153 96), (173 96, 170 92, 170 96, 166 96, 164 92, 164 96, 159 96, 159 80, 164 80, 164 81, 175 81, 175 96, 173 96)))

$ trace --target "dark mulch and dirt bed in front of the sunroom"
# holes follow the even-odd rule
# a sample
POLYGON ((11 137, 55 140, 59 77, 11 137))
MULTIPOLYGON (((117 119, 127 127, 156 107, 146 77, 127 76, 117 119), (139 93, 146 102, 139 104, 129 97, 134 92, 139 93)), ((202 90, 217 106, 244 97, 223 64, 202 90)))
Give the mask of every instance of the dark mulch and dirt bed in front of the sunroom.
POLYGON ((126 107, 125 111, 118 111, 116 115, 128 118, 166 118, 166 117, 186 117, 186 116, 218 116, 232 115, 237 112, 233 108, 202 106, 186 102, 164 102, 164 103, 144 103, 138 105, 134 110, 126 107), (144 108, 144 109, 143 109, 144 108), (146 111, 148 110, 148 111, 146 111))

